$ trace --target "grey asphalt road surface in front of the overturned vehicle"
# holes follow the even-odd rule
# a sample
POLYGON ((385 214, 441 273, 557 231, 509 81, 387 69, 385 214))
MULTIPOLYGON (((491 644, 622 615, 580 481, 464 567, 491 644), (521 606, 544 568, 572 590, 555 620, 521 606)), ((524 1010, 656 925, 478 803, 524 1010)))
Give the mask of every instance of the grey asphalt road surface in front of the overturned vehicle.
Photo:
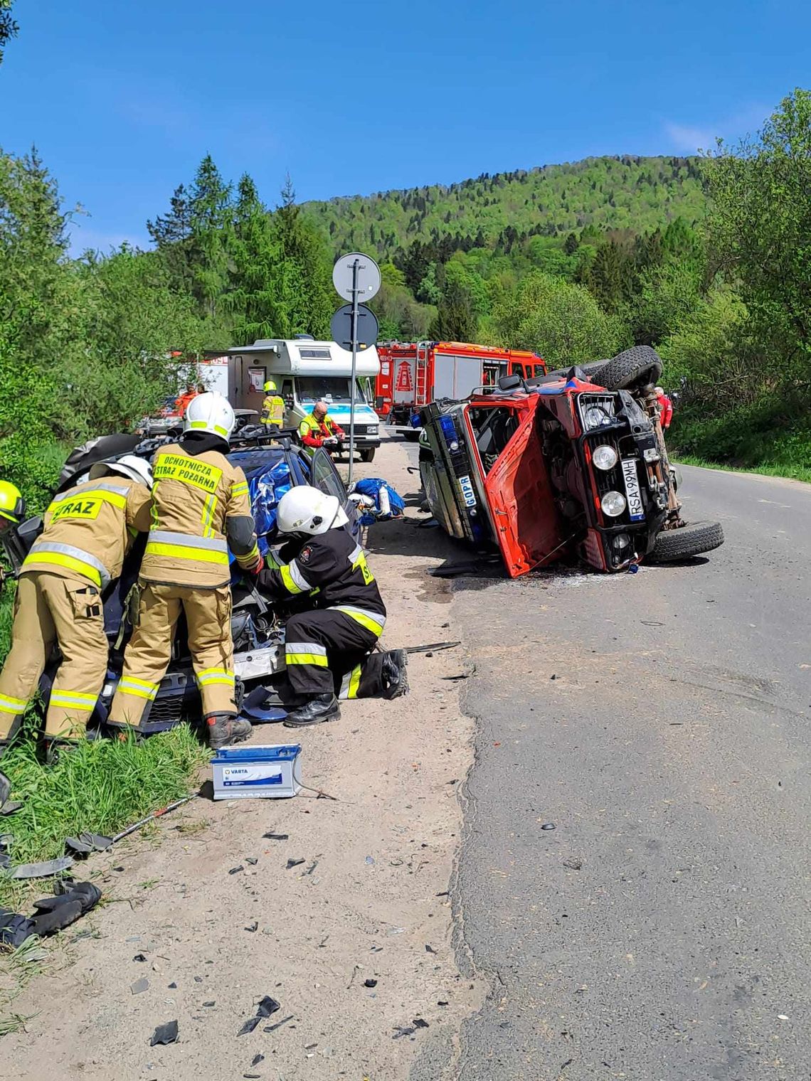
POLYGON ((811 486, 683 473, 706 559, 454 585, 461 1081, 811 1077, 811 486))

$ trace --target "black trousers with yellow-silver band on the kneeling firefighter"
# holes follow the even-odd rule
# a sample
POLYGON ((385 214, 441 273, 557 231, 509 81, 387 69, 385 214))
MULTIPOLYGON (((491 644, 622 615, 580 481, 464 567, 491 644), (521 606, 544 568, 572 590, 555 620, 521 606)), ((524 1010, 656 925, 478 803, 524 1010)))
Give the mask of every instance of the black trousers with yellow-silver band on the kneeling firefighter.
POLYGON ((335 677, 359 666, 380 637, 336 609, 291 616, 284 636, 288 679, 297 694, 308 695, 333 694, 335 677))

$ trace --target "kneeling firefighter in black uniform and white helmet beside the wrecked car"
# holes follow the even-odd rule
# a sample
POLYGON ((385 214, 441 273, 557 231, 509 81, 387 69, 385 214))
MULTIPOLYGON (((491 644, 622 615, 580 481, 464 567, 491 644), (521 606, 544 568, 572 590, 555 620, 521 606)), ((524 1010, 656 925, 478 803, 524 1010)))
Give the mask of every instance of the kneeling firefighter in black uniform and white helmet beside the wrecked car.
POLYGON ((348 519, 336 496, 308 484, 292 488, 276 521, 289 540, 257 585, 274 601, 311 598, 313 608, 288 619, 284 642, 288 680, 300 697, 284 724, 303 728, 341 716, 336 679, 360 679, 359 666, 386 625, 386 606, 363 549, 344 529, 348 519))

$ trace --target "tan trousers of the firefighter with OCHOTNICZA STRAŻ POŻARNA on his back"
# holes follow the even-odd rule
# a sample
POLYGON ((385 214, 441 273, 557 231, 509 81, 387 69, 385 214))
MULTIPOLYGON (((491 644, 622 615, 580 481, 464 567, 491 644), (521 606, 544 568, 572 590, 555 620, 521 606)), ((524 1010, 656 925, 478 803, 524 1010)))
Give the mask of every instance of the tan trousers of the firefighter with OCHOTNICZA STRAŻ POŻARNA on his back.
POLYGON ((230 586, 199 589, 142 582, 141 590, 137 626, 124 651, 124 668, 110 706, 109 722, 137 728, 149 716, 172 657, 182 612, 186 615, 188 648, 203 717, 236 713, 230 586))

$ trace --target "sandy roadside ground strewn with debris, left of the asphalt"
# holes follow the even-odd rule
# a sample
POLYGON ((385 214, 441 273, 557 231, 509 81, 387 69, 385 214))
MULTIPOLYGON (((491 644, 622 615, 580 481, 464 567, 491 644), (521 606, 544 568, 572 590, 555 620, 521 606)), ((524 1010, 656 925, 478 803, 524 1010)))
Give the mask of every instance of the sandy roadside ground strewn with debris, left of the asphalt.
MULTIPOLYGON (((407 464, 387 441, 361 469, 415 494, 407 464)), ((369 538, 389 648, 458 637, 447 584, 427 574, 450 542, 415 525, 411 502, 409 521, 369 538)), ((199 799, 94 857, 109 904, 59 936, 16 1000, 29 1019, 2 1040, 0 1078, 387 1081, 426 1041, 455 1046, 482 998, 454 963, 448 895, 471 761, 449 679, 463 670, 461 650, 413 655, 408 697, 346 704, 300 734, 305 784, 335 801, 199 799), (238 1035, 264 996, 280 1009, 238 1035), (151 1047, 171 1020, 177 1042, 151 1047)), ((253 742, 296 735, 265 725, 253 742)))

